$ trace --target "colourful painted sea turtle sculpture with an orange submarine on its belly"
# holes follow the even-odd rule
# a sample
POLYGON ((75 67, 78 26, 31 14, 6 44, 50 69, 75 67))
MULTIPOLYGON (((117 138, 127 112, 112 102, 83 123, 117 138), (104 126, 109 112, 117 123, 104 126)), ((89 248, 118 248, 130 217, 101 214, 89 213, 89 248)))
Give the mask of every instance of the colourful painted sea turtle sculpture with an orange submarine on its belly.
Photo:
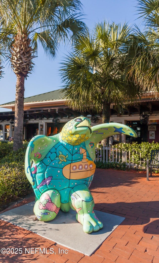
POLYGON ((104 123, 91 127, 78 117, 67 122, 57 135, 33 137, 25 155, 25 173, 36 196, 34 214, 40 221, 53 220, 59 209, 76 210, 83 231, 98 231, 103 224, 96 217, 89 186, 95 173, 95 148, 114 134, 137 137, 130 127, 104 123))

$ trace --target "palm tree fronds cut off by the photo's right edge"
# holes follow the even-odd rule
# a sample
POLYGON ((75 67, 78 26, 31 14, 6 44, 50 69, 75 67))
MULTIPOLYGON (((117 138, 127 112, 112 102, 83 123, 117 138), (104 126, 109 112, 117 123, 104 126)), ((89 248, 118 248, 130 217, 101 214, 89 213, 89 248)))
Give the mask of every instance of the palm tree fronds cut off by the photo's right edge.
POLYGON ((131 67, 129 77, 133 78, 142 92, 151 91, 158 95, 159 88, 159 1, 138 0, 138 11, 143 17, 146 31, 136 28, 129 42, 131 67))

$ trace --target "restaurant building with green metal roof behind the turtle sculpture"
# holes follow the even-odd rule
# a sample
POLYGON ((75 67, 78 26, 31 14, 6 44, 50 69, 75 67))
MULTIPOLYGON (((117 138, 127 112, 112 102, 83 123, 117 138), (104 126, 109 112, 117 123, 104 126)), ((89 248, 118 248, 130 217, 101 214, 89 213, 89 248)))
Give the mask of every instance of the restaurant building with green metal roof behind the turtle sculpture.
MULTIPOLYGON (((14 137, 15 101, 1 104, 0 107, 11 110, 9 112, 0 112, 0 139, 4 140, 8 136, 14 137)), ((92 125, 102 123, 102 113, 99 115, 94 114, 91 110, 81 112, 70 109, 67 106, 63 89, 24 98, 23 138, 29 140, 38 134, 50 136, 59 133, 69 119, 78 116, 87 116, 91 119, 92 125)), ((140 101, 129 105, 124 114, 117 113, 112 104, 110 121, 131 126, 138 134, 138 142, 159 141, 159 104, 158 100, 153 99, 151 94, 147 94, 140 101), (140 118, 146 116, 146 114, 149 120, 142 123, 140 118), (148 125, 156 126, 153 131, 153 139, 150 138, 151 130, 148 129, 148 125)), ((125 138, 123 134, 114 136, 114 143, 125 141, 130 142, 129 138, 125 138)))

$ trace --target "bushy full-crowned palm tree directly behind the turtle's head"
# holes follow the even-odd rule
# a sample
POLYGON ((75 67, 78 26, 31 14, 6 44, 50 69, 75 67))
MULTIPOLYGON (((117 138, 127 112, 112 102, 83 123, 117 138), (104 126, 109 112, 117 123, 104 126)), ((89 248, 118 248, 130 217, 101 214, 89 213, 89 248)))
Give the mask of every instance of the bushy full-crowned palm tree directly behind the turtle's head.
POLYGON ((102 109, 102 122, 110 121, 113 103, 120 112, 139 94, 126 79, 130 28, 124 24, 96 24, 93 34, 80 38, 62 63, 61 78, 68 105, 73 109, 102 109))

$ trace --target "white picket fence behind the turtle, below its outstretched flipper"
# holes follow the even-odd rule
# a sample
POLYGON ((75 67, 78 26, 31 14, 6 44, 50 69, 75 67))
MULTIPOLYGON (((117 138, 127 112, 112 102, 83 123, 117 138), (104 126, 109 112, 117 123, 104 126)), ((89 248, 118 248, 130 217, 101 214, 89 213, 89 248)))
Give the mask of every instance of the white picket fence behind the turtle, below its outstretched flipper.
POLYGON ((120 150, 114 146, 105 146, 103 144, 103 147, 98 146, 95 151, 95 162, 101 161, 106 163, 125 163, 127 167, 132 168, 145 168, 145 159, 141 158, 141 152, 135 152, 135 154, 140 155, 140 161, 138 164, 134 163, 134 155, 130 155, 130 150, 120 150), (130 162, 131 160, 131 162, 130 162))

